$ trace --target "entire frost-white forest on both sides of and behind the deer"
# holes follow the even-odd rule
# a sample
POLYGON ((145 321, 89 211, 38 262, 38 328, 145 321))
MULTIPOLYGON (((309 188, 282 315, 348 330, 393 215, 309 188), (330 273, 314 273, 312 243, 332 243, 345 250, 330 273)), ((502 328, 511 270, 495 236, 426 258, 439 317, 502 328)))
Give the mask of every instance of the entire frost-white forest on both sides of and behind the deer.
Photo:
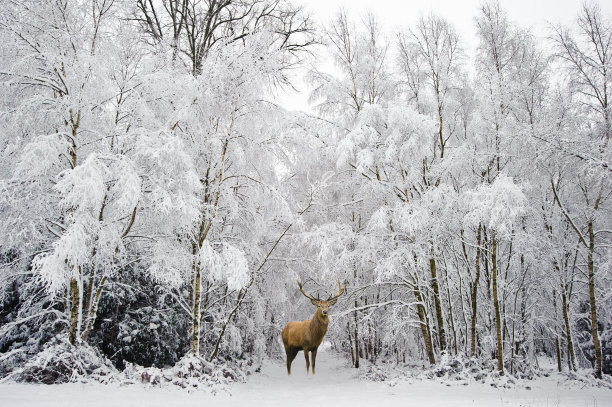
POLYGON ((612 386, 612 16, 473 16, 472 54, 435 12, 4 0, 2 381, 286 375, 303 294, 339 292, 365 377, 612 386))

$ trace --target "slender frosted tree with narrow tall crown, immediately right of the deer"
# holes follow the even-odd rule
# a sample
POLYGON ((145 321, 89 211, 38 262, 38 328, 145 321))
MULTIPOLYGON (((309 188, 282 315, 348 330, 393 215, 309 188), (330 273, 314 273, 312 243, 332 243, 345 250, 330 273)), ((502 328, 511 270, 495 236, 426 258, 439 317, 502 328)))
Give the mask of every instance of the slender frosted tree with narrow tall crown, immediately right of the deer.
MULTIPOLYGON (((351 141, 347 133, 359 126, 362 112, 366 116, 376 114, 378 105, 385 105, 391 100, 394 80, 388 67, 388 42, 380 22, 373 14, 365 15, 360 23, 355 23, 346 11, 340 11, 330 28, 325 30, 325 38, 338 72, 311 72, 314 86, 311 99, 323 118, 334 124, 330 147, 335 151, 331 151, 333 158, 330 157, 327 164, 332 165, 328 167, 330 171, 337 171, 333 167, 337 163, 340 171, 328 182, 328 193, 333 197, 326 200, 326 204, 334 207, 341 205, 336 207, 332 216, 336 219, 340 217, 345 222, 348 220, 350 225, 347 229, 341 222, 333 228, 332 234, 343 235, 341 241, 348 245, 347 250, 339 250, 344 255, 338 266, 350 285, 374 287, 372 290, 349 293, 352 304, 358 308, 364 303, 376 302, 373 298, 378 296, 376 287, 372 285, 372 274, 368 271, 371 265, 360 259, 360 245, 367 220, 376 206, 374 201, 368 199, 374 191, 370 180, 382 176, 382 168, 376 168, 367 148, 362 151, 363 159, 369 160, 367 163, 357 163, 353 160, 354 156, 346 157, 345 154, 351 154, 351 147, 348 146, 351 141), (375 108, 370 109, 372 106, 375 108)), ((368 147, 375 143, 371 135, 361 140, 369 144, 368 147)), ((338 243, 336 239, 332 241, 338 243)), ((364 324, 360 322, 358 311, 353 312, 351 319, 346 320, 346 327, 351 347, 354 348, 353 362, 358 367, 360 356, 371 351, 372 341, 365 344, 360 342, 359 327, 364 324)), ((341 323, 344 324, 344 321, 341 323)), ((369 322, 365 325, 369 325, 369 331, 375 330, 369 322)))

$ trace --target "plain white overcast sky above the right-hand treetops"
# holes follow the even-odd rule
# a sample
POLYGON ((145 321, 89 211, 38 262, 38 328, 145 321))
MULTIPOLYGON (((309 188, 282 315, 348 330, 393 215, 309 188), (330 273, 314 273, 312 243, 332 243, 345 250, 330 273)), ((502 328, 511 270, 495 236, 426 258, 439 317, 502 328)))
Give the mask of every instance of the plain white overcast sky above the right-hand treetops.
MULTIPOLYGON (((312 12, 314 18, 325 23, 340 7, 344 7, 354 17, 373 11, 386 30, 412 26, 420 14, 434 12, 454 24, 461 36, 468 57, 472 57, 476 47, 476 16, 481 0, 293 0, 312 12)), ((511 21, 520 27, 534 30, 544 36, 549 23, 570 24, 576 18, 582 5, 581 0, 500 0, 511 21)), ((603 12, 612 17, 612 1, 599 1, 603 12)), ((297 85, 298 94, 281 96, 281 103, 289 110, 308 110, 307 89, 304 84, 297 85)))

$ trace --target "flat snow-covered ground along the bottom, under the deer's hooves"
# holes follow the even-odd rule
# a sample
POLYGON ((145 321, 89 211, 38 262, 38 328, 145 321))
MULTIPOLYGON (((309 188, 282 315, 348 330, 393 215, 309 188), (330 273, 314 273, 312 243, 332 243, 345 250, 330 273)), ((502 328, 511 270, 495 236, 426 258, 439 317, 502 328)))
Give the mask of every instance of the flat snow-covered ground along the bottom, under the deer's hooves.
POLYGON ((558 385, 554 377, 515 388, 493 388, 481 383, 449 386, 431 380, 370 382, 328 349, 320 349, 316 376, 306 376, 300 353, 287 376, 279 362, 267 361, 261 373, 231 387, 231 394, 188 392, 174 387, 102 384, 1 384, 0 406, 612 406, 612 390, 558 385), (391 385, 390 385, 391 384, 391 385), (325 403, 325 404, 323 404, 325 403))

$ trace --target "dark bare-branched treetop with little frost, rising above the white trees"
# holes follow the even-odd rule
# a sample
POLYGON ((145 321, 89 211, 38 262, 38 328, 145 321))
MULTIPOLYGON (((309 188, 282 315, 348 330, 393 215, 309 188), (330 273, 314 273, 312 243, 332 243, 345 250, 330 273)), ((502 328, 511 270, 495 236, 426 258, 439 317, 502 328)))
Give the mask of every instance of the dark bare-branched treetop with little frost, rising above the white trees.
POLYGON ((286 52, 283 70, 315 43, 310 17, 287 0, 137 0, 133 14, 152 46, 168 48, 196 76, 218 45, 261 31, 277 34, 270 45, 286 52))

